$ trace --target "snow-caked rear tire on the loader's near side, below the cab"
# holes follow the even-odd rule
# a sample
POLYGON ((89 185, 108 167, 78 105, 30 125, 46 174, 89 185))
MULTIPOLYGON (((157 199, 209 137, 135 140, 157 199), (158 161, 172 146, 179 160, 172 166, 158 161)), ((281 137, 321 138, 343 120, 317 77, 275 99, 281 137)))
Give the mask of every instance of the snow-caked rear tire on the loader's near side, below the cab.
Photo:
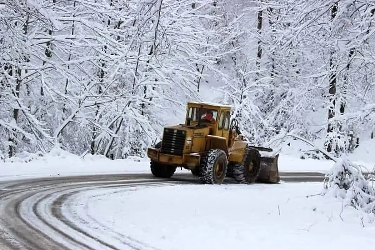
POLYGON ((228 168, 226 153, 213 149, 204 154, 199 166, 199 178, 206 184, 221 184, 228 168))

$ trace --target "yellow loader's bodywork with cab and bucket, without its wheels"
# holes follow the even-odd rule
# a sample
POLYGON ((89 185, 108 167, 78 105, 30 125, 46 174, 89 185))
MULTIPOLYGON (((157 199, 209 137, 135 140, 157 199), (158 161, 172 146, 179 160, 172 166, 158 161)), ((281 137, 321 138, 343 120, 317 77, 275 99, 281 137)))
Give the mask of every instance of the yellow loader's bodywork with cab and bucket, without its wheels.
MULTIPOLYGON (((228 105, 188 102, 185 122, 165 127, 162 141, 157 147, 148 148, 147 156, 154 162, 192 171, 201 164, 202 155, 211 149, 225 151, 228 163, 243 162, 249 141, 230 127, 230 111, 228 105), (210 114, 212 117, 207 120, 210 114)), ((278 155, 261 157, 259 181, 279 182, 277 161, 278 155)))

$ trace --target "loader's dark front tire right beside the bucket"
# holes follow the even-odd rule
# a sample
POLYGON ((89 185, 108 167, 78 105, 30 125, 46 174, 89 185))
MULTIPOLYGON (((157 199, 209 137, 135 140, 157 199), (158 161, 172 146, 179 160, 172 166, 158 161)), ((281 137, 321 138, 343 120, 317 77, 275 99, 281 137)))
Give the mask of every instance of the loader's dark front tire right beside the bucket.
POLYGON ((241 163, 233 168, 233 177, 239 183, 251 184, 257 181, 260 173, 260 153, 255 148, 247 146, 241 163))

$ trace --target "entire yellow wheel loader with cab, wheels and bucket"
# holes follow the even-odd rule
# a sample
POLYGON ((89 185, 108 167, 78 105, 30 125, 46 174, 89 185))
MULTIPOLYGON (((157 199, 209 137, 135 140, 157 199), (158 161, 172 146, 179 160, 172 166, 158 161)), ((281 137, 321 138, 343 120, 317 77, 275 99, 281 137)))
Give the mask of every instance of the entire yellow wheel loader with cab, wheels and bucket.
POLYGON ((188 102, 185 123, 165 127, 162 141, 147 149, 151 173, 170 178, 183 167, 207 184, 220 184, 225 177, 279 183, 279 154, 250 145, 230 111, 228 105, 188 102))

